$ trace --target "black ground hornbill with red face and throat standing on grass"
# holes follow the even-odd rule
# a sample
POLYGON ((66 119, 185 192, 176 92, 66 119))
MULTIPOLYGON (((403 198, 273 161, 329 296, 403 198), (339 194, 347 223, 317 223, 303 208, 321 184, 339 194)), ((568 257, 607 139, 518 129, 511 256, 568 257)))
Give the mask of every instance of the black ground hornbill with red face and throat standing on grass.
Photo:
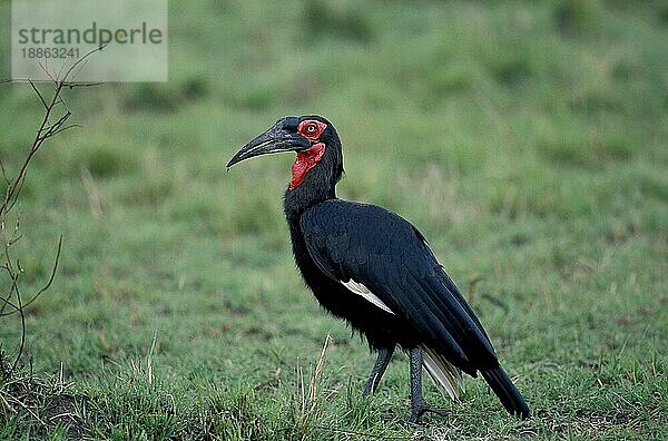
POLYGON ((412 422, 425 411, 444 414, 424 401, 422 367, 453 400, 461 372, 480 372, 509 413, 528 418, 480 321, 418 228, 384 208, 336 198, 343 153, 334 126, 316 115, 282 118, 227 168, 281 151, 297 154, 284 210, 302 276, 321 305, 379 352, 364 394, 375 391, 399 345, 410 357, 412 422))

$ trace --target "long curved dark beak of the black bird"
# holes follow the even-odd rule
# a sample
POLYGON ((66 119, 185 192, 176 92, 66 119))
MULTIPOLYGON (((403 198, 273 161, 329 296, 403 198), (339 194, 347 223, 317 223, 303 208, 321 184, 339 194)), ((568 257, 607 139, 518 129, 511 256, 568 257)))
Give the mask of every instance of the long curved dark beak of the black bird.
POLYGON ((311 141, 308 139, 296 134, 296 125, 292 120, 293 118, 294 117, 279 119, 271 129, 242 147, 239 151, 229 159, 227 168, 255 156, 282 151, 301 151, 311 147, 311 141))

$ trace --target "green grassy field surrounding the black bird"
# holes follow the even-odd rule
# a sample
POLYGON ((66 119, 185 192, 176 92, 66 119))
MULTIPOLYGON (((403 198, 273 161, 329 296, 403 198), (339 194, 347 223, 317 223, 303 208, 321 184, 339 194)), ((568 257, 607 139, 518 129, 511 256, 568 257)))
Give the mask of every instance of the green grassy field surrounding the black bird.
MULTIPOLYGON (((0 439, 668 437, 665 3, 171 1, 169 13, 169 81, 68 91, 84 127, 29 173, 23 292, 48 277, 60 235, 63 249, 28 310, 24 371, 32 360, 56 392, 68 385, 30 402, 45 424, 0 401, 0 439), (225 169, 278 117, 310 112, 343 140, 340 197, 428 236, 531 420, 468 379, 456 403, 426 381, 450 413, 409 424, 403 354, 362 399, 374 356, 292 261, 292 155, 225 169)), ((0 86, 10 171, 40 107, 30 87, 0 86)), ((0 317, 8 354, 19 331, 0 317)))

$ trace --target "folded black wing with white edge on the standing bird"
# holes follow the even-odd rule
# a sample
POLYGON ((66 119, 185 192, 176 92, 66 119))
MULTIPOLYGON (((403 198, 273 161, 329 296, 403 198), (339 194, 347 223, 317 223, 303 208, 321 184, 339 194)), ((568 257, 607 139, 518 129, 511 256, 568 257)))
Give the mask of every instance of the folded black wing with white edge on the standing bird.
POLYGON ((323 273, 367 288, 453 364, 474 374, 498 363, 478 317, 407 220, 377 206, 333 199, 307 209, 299 226, 323 273))

